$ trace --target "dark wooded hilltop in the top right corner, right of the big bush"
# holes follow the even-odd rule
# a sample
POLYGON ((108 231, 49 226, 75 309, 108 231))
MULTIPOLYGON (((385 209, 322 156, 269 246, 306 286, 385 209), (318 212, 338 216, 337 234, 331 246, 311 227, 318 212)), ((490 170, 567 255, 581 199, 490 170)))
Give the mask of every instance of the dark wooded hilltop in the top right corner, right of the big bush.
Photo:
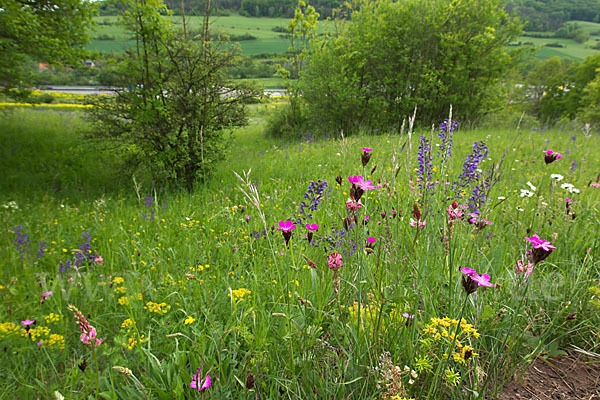
POLYGON ((548 32, 569 20, 600 22, 600 0, 507 0, 526 31, 548 32))

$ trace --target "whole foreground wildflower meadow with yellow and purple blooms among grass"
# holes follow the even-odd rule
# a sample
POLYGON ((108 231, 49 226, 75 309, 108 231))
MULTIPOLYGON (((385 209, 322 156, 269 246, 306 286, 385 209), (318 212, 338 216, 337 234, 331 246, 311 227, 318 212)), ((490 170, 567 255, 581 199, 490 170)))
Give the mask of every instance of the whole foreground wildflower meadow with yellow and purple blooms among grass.
POLYGON ((440 158, 430 130, 265 137, 274 107, 252 106, 191 193, 122 176, 81 114, 3 111, 0 398, 463 399, 538 356, 598 350, 598 136, 458 129, 440 158), (548 149, 564 157, 546 165, 548 149), (357 175, 375 188, 352 211, 357 175), (280 221, 297 224, 287 246, 280 221), (557 249, 527 278, 534 234, 557 249), (496 286, 467 295, 460 267, 496 286))

